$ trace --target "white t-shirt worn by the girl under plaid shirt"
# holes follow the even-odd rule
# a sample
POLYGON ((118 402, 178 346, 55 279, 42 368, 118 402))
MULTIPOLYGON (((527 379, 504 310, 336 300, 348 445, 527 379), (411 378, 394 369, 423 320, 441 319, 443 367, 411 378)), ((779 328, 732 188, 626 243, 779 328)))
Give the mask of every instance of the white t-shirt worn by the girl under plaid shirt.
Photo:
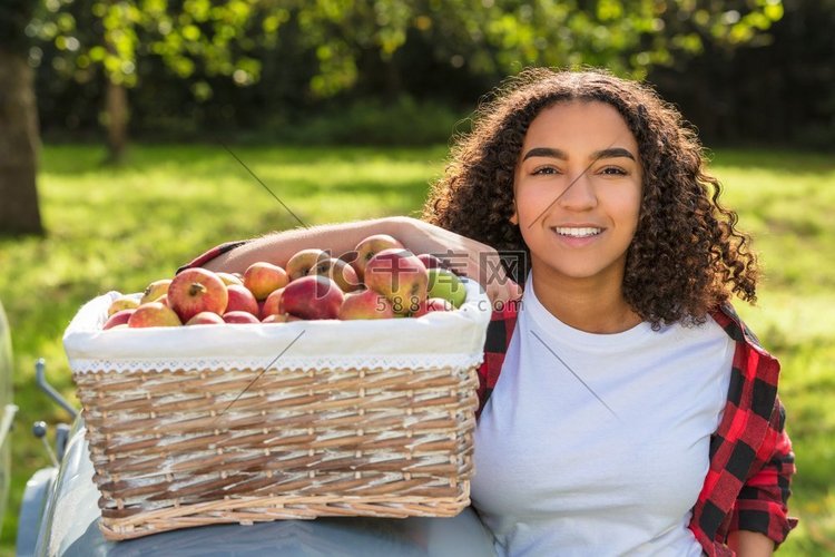
POLYGON ((734 348, 710 319, 572 329, 529 277, 475 431, 472 500, 498 554, 700 556, 687 525, 734 348))

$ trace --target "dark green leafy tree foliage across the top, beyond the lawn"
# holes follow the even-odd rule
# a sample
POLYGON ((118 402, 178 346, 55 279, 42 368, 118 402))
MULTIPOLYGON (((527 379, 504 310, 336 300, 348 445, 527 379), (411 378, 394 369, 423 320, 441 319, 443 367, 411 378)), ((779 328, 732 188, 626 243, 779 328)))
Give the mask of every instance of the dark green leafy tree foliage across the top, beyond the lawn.
MULTIPOLYGON (((0 6, 0 25, 20 13, 20 0, 10 1, 0 6)), ((272 140, 323 110, 370 99, 462 111, 523 66, 592 65, 648 77, 711 143, 835 145, 835 0, 33 6, 30 23, 18 27, 37 67, 42 129, 53 139, 101 137, 107 79, 131 88, 136 137, 272 140)), ((410 139, 407 127, 390 124, 410 139)), ((374 140, 355 134, 350 143, 374 140)))

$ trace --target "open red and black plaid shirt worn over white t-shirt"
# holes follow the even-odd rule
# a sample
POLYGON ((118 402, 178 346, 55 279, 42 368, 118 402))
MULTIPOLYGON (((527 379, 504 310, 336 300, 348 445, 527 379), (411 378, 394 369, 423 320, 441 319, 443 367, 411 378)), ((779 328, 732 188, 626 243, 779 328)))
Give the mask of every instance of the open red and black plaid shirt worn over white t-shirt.
MULTIPOLYGON (((518 305, 504 304, 493 312, 479 369, 479 412, 499 380, 518 305)), ((730 305, 711 316, 737 341, 725 413, 710 440, 710 468, 689 525, 705 553, 714 557, 734 555, 725 545, 730 530, 758 531, 780 544, 797 520, 787 517, 795 465, 777 397, 779 363, 730 305)))

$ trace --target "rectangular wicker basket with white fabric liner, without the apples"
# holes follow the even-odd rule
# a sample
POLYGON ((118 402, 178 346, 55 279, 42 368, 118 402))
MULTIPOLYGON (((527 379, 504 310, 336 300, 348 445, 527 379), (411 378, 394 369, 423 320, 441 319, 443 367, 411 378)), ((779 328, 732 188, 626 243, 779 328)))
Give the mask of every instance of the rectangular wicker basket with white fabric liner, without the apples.
POLYGON ((490 320, 474 283, 420 320, 101 331, 116 295, 65 335, 106 538, 469 505, 490 320))

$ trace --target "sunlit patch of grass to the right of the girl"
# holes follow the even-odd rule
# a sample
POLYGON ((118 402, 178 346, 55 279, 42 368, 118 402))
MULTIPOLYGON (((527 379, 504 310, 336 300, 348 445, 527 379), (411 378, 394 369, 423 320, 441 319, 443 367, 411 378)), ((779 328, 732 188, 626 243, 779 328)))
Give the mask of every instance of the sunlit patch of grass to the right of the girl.
POLYGON ((835 162, 796 153, 718 153, 714 173, 755 238, 764 281, 739 313, 782 363, 780 398, 797 459, 780 550, 835 555, 835 162))

